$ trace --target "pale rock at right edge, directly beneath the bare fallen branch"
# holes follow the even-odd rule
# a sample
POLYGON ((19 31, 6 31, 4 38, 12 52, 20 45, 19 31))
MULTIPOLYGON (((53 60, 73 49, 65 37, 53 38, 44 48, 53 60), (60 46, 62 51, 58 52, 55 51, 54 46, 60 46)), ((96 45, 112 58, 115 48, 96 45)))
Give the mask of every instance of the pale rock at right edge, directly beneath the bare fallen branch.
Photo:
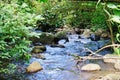
POLYGON ((118 60, 120 60, 120 56, 115 54, 106 54, 103 56, 103 61, 105 63, 116 63, 118 60))

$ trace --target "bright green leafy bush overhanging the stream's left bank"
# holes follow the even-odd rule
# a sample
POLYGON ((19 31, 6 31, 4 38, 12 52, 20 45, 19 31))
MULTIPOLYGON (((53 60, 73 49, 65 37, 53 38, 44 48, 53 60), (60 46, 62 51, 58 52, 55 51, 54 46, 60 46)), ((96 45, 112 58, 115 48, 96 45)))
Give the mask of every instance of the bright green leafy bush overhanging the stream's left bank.
POLYGON ((26 3, 18 5, 0 1, 0 73, 9 71, 4 66, 11 65, 13 60, 29 60, 31 26, 41 19, 31 11, 26 3))

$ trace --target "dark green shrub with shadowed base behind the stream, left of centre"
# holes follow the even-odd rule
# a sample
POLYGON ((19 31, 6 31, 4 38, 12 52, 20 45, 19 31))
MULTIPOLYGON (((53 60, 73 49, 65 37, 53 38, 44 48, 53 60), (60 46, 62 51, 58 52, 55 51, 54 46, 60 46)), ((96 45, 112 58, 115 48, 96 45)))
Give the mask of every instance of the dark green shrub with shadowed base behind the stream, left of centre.
POLYGON ((43 14, 44 19, 37 22, 38 28, 44 32, 54 31, 55 28, 59 28, 64 25, 64 20, 59 18, 57 13, 46 11, 43 14))

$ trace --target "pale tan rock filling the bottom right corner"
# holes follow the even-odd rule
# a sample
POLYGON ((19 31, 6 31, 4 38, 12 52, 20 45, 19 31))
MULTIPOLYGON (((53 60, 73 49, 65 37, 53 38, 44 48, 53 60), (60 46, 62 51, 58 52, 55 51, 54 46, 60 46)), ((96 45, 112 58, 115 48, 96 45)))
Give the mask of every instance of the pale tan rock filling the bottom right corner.
POLYGON ((96 80, 120 80, 120 73, 111 73, 108 74, 104 77, 102 77, 101 79, 96 79, 96 80))

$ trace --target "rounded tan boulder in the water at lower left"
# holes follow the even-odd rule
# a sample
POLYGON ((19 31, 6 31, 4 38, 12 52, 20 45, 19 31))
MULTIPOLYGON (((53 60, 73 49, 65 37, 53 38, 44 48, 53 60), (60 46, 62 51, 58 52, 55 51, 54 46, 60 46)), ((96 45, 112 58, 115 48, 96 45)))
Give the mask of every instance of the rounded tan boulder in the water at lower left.
POLYGON ((26 68, 26 72, 27 73, 34 73, 34 72, 38 72, 40 70, 42 70, 42 66, 40 65, 39 62, 32 62, 27 68, 26 68))

